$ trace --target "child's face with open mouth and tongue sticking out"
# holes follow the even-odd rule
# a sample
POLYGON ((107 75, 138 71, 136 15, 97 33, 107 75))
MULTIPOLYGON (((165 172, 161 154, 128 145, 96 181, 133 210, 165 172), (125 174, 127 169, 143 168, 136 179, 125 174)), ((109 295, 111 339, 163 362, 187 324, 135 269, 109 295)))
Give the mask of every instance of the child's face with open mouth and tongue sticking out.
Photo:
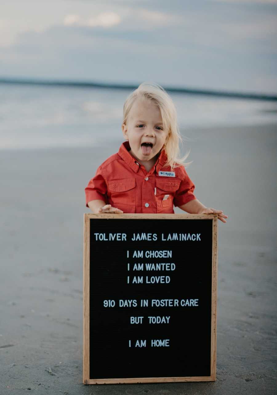
POLYGON ((161 111, 151 100, 136 100, 122 131, 129 141, 133 155, 141 164, 155 164, 156 155, 163 148, 167 132, 163 128, 161 111), (149 163, 150 162, 150 163, 149 163))

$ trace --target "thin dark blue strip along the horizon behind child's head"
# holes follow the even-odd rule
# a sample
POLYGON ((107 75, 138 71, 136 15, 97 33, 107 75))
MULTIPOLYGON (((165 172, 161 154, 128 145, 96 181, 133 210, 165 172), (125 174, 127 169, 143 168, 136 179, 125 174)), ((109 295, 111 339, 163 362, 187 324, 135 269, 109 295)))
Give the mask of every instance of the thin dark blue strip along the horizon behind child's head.
MULTIPOLYGON (((73 87, 73 88, 108 88, 108 89, 121 89, 121 90, 132 90, 136 89, 138 85, 133 84, 116 84, 116 83, 97 83, 91 81, 68 81, 68 80, 56 80, 56 79, 33 79, 33 78, 9 78, 0 77, 0 83, 2 84, 19 84, 19 85, 50 85, 57 87, 73 87)), ((194 88, 177 88, 177 87, 163 87, 167 92, 181 93, 181 94, 194 94, 202 96, 221 96, 226 98, 241 98, 241 99, 253 99, 253 100, 268 100, 277 101, 277 95, 275 94, 263 94, 263 93, 245 93, 245 92, 232 92, 232 91, 221 91, 212 89, 194 89, 194 88)))

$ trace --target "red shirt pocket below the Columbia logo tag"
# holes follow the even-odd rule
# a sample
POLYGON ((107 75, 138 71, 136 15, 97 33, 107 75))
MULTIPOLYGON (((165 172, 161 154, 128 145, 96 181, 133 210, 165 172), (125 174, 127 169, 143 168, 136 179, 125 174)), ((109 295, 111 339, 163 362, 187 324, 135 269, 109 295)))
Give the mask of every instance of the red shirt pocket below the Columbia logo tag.
POLYGON ((180 186, 180 179, 157 179, 156 180, 156 204, 157 213, 174 213, 173 211, 173 199, 176 191, 180 186), (168 198, 163 200, 165 195, 168 198))

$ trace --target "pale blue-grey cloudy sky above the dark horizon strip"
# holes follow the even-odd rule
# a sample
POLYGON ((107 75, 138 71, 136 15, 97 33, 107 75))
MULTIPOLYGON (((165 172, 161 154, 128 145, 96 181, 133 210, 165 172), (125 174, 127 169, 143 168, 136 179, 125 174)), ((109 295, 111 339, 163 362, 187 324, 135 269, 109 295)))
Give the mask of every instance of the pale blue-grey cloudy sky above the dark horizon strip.
POLYGON ((0 77, 277 94, 277 0, 1 0, 0 77))

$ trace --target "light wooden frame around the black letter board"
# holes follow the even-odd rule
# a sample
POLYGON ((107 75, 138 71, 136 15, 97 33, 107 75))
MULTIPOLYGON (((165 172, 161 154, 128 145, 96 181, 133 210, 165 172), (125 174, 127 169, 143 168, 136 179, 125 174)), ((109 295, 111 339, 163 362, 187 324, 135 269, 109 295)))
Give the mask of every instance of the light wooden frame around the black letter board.
POLYGON ((217 214, 84 214, 83 255, 83 383, 84 384, 133 384, 153 382, 203 382, 216 380, 216 319, 217 319, 217 214), (188 219, 213 221, 212 283, 211 283, 211 375, 195 377, 144 377, 90 379, 90 219, 188 219))

